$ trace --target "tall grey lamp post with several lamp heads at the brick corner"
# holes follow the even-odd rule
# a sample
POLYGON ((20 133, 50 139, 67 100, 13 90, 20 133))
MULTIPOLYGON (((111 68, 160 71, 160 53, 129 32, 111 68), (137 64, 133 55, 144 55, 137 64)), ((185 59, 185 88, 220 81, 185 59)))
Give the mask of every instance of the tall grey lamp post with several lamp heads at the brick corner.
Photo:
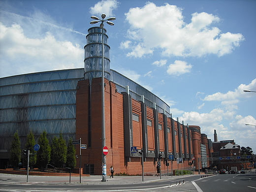
MULTIPOLYGON (((102 73, 101 73, 101 87, 102 87, 102 99, 101 99, 101 103, 102 103, 102 150, 103 147, 105 146, 105 96, 104 96, 104 91, 105 91, 105 86, 104 86, 104 22, 107 23, 108 25, 113 26, 114 23, 111 22, 113 20, 115 20, 115 17, 110 17, 108 19, 105 19, 106 14, 102 14, 101 18, 99 19, 96 16, 91 16, 92 19, 95 19, 95 21, 91 21, 90 24, 96 24, 98 22, 101 22, 100 24, 100 28, 101 28, 101 46, 102 46, 102 50, 101 50, 101 54, 102 54, 102 61, 101 61, 101 66, 102 66, 102 73), (105 20, 104 20, 105 19, 105 20)), ((106 182, 106 156, 102 153, 102 182, 106 182)))

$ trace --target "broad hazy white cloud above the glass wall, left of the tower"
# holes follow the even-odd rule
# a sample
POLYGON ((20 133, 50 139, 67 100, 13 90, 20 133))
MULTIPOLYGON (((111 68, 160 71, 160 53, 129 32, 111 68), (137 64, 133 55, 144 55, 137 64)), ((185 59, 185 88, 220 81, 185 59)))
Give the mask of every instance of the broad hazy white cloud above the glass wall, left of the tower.
POLYGON ((50 32, 29 38, 20 25, 6 27, 0 23, 0 44, 1 77, 83 66, 82 47, 59 41, 50 32))

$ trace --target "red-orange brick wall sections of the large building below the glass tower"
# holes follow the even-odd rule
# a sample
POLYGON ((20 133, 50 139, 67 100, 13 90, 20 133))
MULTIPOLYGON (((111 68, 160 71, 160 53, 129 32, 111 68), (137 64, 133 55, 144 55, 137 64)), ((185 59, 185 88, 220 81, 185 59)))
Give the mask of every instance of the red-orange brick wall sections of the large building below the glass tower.
MULTIPOLYGON (((105 143, 108 147, 108 155, 106 156, 107 171, 112 165, 116 173, 140 174, 141 173, 141 158, 130 158, 130 162, 126 162, 124 154, 124 117, 123 117, 123 95, 117 93, 116 86, 113 82, 105 79, 105 143)), ((76 139, 81 137, 82 144, 89 144, 89 81, 82 80, 78 82, 76 95, 76 139)), ((81 165, 84 168, 85 164, 94 164, 95 175, 101 175, 101 159, 102 159, 102 130, 101 130, 101 78, 92 80, 92 146, 88 145, 88 149, 81 150, 81 165)), ((154 132, 154 116, 153 110, 147 107, 147 119, 152 121, 152 126, 147 126, 148 133, 148 150, 155 150, 155 132, 154 132)), ((133 146, 137 149, 142 148, 142 113, 141 103, 132 99, 132 113, 139 115, 139 121, 132 121, 132 137, 133 146)), ((162 125, 162 130, 159 131, 160 151, 164 151, 164 131, 163 131, 163 114, 158 113, 159 124, 162 125)), ((171 121, 167 118, 167 127, 171 128, 171 121)), ((179 153, 178 129, 177 122, 174 121, 174 127, 177 132, 175 135, 176 153, 179 153)), ((172 152, 171 133, 167 133, 169 152, 172 152)), ((200 153, 200 145, 194 142, 199 141, 198 135, 193 135, 192 153, 200 153)), ((184 139, 184 136, 182 137, 184 139)), ((187 140, 188 141, 188 140, 187 140)), ((182 150, 184 153, 184 141, 182 141, 182 150)), ((188 142, 187 142, 188 146, 188 142)), ((79 156, 79 145, 76 145, 76 155, 79 156)), ((173 152, 175 153, 175 152, 173 152)), ((183 167, 188 167, 187 161, 184 161, 183 167)), ((167 167, 161 160, 162 170, 167 167)), ((77 159, 77 167, 79 167, 79 159, 77 159)), ((170 168, 170 166, 169 166, 170 168)), ((177 162, 173 161, 173 168, 177 168, 177 162)), ((181 165, 180 167, 181 168, 181 165)), ((156 162, 154 158, 146 158, 144 162, 145 172, 156 171, 156 162)))

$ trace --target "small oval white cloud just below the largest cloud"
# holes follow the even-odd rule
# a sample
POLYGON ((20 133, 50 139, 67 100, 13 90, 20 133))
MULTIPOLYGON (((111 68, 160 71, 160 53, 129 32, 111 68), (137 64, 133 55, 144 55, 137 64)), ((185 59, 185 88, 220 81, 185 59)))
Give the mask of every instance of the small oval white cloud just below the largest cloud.
POLYGON ((169 75, 181 75, 190 72, 191 68, 192 64, 176 60, 173 64, 168 66, 167 73, 169 75))

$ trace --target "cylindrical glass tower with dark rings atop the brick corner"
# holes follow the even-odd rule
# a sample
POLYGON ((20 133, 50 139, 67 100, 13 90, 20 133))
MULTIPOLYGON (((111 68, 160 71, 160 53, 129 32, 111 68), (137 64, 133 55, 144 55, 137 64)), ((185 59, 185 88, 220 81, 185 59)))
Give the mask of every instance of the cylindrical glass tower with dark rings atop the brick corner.
MULTIPOLYGON (((103 28, 103 43, 104 43, 104 77, 110 78, 110 60, 109 50, 110 47, 107 44, 108 36, 106 35, 106 29, 103 28)), ((101 77, 102 73, 102 31, 100 27, 93 27, 88 30, 86 36, 87 44, 85 45, 85 79, 101 77)))

